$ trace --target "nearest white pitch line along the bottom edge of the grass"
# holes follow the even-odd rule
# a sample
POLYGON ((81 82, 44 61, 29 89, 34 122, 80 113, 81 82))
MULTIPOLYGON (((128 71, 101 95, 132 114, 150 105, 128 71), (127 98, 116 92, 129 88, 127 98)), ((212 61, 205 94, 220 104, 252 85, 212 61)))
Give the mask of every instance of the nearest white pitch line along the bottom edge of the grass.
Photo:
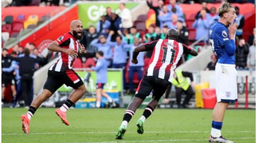
MULTIPOLYGON (((251 139, 254 137, 241 137, 241 138, 229 138, 232 140, 236 140, 236 139, 242 139, 242 140, 246 140, 246 139, 251 139)), ((159 142, 163 142, 163 141, 199 141, 199 140, 208 140, 207 138, 205 139, 170 139, 170 140, 130 140, 130 141, 103 141, 103 142, 82 142, 82 143, 133 143, 133 142, 155 142, 155 141, 159 141, 159 142)), ((77 142, 77 143, 81 143, 81 142, 77 142)))

